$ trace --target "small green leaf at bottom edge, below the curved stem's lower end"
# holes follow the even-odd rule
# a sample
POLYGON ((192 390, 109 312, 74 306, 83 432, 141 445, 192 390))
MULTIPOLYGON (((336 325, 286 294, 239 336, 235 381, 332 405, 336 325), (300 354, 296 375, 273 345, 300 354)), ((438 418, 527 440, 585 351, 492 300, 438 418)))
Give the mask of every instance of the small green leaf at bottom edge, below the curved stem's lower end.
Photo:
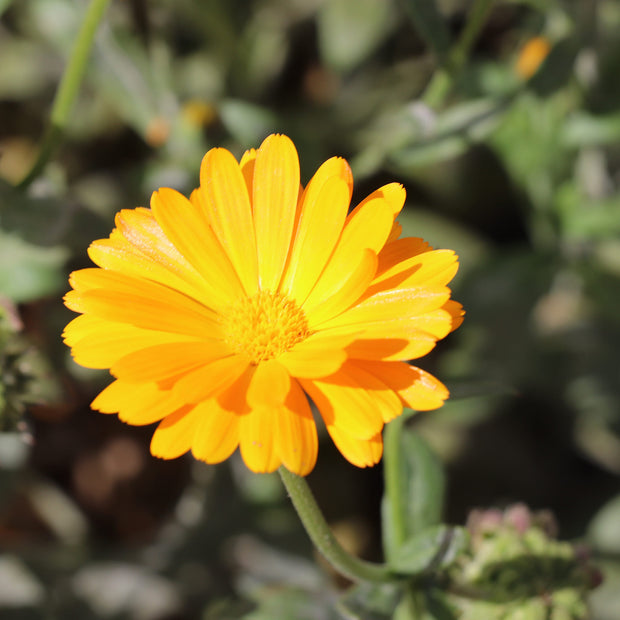
POLYGON ((394 584, 361 583, 347 590, 337 608, 347 620, 392 620, 401 597, 394 584))

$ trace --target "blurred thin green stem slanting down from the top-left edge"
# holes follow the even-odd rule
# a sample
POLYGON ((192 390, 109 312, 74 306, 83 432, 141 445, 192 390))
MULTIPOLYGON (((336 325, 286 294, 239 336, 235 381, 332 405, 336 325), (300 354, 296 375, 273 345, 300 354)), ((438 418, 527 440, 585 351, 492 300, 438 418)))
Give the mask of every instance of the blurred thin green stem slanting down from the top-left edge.
POLYGON ((110 0, 92 0, 86 11, 82 27, 71 52, 69 64, 56 91, 50 114, 50 124, 43 138, 39 156, 28 174, 19 183, 20 189, 27 188, 37 178, 62 137, 73 102, 84 77, 97 26, 109 3, 110 0))

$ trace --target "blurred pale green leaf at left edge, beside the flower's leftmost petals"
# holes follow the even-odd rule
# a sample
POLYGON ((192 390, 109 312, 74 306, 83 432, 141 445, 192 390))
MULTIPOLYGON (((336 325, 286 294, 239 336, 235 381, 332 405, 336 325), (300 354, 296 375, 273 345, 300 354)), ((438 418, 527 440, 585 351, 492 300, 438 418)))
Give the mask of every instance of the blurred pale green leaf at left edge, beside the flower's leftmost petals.
POLYGON ((63 247, 42 248, 0 231, 0 294, 22 303, 66 286, 63 247))

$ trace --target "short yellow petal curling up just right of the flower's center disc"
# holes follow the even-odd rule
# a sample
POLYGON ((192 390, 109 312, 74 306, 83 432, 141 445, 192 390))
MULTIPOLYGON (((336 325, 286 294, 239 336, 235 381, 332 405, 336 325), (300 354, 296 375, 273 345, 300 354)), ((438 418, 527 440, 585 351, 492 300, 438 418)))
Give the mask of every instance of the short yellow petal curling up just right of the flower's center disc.
POLYGON ((319 297, 315 288, 303 306, 310 329, 350 308, 368 289, 377 269, 377 255, 372 250, 363 250, 358 262, 340 274, 340 285, 332 289, 327 297, 319 297))

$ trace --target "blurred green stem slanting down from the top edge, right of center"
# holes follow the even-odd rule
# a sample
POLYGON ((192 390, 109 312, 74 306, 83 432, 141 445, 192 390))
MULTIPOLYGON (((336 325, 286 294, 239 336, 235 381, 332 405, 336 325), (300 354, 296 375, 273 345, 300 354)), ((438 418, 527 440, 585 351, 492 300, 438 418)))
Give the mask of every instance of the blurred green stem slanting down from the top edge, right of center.
POLYGON ((461 36, 448 53, 445 67, 437 69, 424 91, 422 99, 429 107, 438 107, 448 95, 454 77, 463 68, 492 5, 493 0, 474 0, 461 36))

